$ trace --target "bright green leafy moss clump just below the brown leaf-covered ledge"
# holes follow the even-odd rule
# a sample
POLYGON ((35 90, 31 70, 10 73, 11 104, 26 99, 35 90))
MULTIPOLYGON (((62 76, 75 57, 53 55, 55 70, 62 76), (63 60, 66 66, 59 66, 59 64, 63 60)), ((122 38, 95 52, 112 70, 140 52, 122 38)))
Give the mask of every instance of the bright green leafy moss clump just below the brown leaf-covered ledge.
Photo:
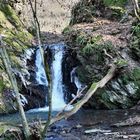
MULTIPOLYGON (((103 61, 103 50, 113 52, 113 45, 111 42, 105 42, 102 44, 102 36, 101 35, 87 35, 83 32, 77 33, 77 37, 75 39, 75 45, 80 46, 81 54, 83 56, 96 54, 97 61, 103 61), (98 55, 97 55, 98 54, 98 55)), ((96 61, 95 60, 95 61, 96 61)))

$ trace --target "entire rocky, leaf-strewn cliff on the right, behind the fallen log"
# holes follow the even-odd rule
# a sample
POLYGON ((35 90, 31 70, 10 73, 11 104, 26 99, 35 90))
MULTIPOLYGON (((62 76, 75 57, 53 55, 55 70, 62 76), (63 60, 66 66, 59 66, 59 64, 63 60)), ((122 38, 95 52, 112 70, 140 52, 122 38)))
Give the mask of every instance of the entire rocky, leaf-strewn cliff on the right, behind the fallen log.
POLYGON ((109 66, 121 71, 85 105, 90 108, 130 108, 140 100, 140 24, 130 1, 90 0, 72 10, 66 41, 77 54, 77 74, 91 85, 103 78, 109 66))

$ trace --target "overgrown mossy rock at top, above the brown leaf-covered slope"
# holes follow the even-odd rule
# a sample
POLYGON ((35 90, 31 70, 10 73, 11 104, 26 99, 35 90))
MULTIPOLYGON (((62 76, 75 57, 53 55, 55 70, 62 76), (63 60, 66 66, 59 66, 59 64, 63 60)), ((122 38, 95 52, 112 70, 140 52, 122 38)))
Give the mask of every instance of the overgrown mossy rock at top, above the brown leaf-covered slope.
POLYGON ((72 10, 70 24, 91 23, 98 17, 121 20, 128 13, 128 0, 81 0, 72 10))

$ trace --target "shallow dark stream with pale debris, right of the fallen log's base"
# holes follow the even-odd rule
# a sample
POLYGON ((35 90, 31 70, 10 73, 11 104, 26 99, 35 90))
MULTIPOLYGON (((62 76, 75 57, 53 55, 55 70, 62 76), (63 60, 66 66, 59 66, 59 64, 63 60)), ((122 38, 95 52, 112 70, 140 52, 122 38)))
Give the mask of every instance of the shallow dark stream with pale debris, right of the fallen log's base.
POLYGON ((82 110, 52 125, 47 140, 139 140, 139 132, 139 111, 82 110))

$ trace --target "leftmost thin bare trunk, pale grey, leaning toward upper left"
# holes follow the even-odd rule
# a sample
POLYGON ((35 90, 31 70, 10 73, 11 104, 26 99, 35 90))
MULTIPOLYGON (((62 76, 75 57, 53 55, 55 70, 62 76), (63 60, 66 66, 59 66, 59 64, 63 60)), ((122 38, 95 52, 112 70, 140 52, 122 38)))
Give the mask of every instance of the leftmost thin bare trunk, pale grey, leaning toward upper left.
POLYGON ((9 76, 12 88, 13 88, 13 90, 15 92, 15 95, 16 95, 15 97, 16 97, 16 101, 17 101, 17 105, 18 105, 18 110, 19 110, 20 116, 22 118, 22 125, 23 125, 25 138, 27 140, 29 140, 30 139, 30 130, 29 130, 29 126, 28 126, 28 123, 27 123, 25 112, 24 112, 24 109, 23 109, 23 106, 22 106, 22 103, 21 103, 20 94, 19 94, 19 90, 18 90, 18 86, 17 86, 17 82, 16 82, 16 77, 12 73, 9 56, 8 56, 6 48, 4 46, 1 46, 0 54, 2 56, 2 60, 3 60, 3 63, 5 65, 6 72, 9 76))

